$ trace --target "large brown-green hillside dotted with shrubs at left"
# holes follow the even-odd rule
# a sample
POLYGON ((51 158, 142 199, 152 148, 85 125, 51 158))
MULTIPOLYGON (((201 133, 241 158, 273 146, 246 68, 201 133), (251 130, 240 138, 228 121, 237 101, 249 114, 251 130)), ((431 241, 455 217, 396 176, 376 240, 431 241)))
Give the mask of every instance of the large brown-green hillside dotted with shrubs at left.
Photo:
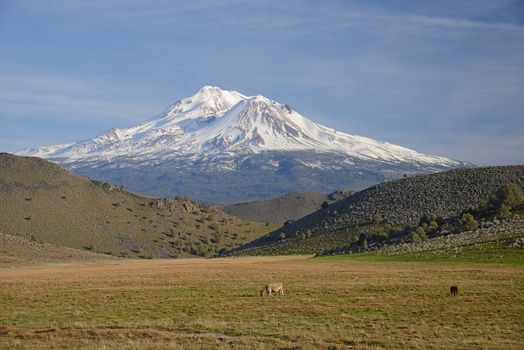
POLYGON ((0 231, 123 257, 211 256, 272 227, 185 198, 140 196, 40 158, 0 154, 0 231))

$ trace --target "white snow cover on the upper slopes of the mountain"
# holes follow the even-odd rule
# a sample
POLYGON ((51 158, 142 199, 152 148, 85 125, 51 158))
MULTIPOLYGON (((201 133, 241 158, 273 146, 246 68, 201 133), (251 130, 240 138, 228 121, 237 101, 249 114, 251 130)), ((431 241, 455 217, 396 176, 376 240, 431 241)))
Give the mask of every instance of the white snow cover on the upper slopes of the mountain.
MULTIPOLYGON (((319 125, 287 105, 264 96, 204 86, 145 123, 77 143, 18 152, 70 164, 122 158, 133 160, 192 159, 264 151, 337 153, 351 159, 459 166, 460 162, 350 135, 319 125)), ((349 161, 348 163, 351 163, 349 161)), ((321 164, 311 164, 312 167, 321 164)))

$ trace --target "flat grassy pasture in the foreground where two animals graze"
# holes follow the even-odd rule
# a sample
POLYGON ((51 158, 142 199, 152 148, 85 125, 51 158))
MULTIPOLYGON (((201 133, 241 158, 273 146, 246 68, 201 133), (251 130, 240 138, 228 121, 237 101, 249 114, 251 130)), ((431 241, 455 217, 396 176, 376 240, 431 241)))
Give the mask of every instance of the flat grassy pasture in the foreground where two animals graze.
POLYGON ((524 268, 354 256, 3 268, 0 310, 2 349, 523 349, 524 268), (285 295, 260 297, 272 281, 285 295))

